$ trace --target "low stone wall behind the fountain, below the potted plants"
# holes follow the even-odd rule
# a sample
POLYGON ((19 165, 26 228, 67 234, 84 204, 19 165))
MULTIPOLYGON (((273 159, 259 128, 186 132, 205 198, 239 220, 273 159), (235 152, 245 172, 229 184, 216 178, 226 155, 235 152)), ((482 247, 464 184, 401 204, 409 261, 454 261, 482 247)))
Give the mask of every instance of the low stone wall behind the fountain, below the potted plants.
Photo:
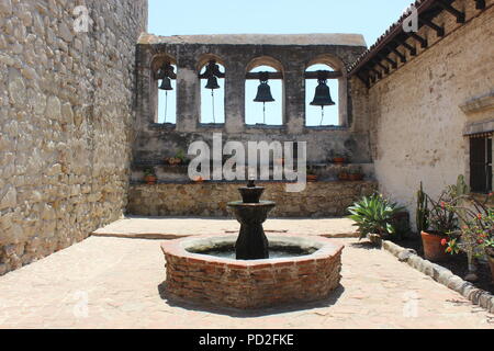
MULTIPOLYGON (((262 200, 274 201, 271 217, 327 217, 346 215, 346 210, 362 195, 370 195, 378 184, 362 182, 307 183, 301 193, 285 192, 284 183, 266 186, 262 200)), ((226 204, 240 200, 238 188, 245 183, 133 184, 128 194, 131 215, 232 217, 226 204)))

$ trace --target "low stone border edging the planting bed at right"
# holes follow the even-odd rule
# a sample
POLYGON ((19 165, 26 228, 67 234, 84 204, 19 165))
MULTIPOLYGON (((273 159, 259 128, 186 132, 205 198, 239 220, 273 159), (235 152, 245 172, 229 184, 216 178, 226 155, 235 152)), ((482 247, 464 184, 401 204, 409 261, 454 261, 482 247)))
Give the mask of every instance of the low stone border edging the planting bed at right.
MULTIPOLYGON (((372 241, 375 242, 375 240, 372 241)), ((444 268, 442 265, 425 260, 416 254, 414 250, 402 248, 401 246, 388 240, 382 240, 381 249, 392 253, 401 262, 406 262, 409 267, 459 293, 474 305, 485 308, 490 313, 494 313, 494 295, 475 287, 472 283, 454 275, 450 270, 444 268)))

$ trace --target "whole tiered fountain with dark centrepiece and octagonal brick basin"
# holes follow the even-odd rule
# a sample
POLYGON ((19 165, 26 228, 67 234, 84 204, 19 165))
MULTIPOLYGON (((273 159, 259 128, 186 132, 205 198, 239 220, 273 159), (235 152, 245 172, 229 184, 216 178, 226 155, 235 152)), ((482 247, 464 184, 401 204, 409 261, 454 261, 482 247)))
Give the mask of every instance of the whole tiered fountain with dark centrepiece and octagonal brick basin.
POLYGON ((339 285, 343 245, 299 235, 270 235, 262 224, 276 203, 249 181, 232 202, 237 236, 213 235, 161 245, 170 297, 213 306, 259 308, 328 297, 339 285))

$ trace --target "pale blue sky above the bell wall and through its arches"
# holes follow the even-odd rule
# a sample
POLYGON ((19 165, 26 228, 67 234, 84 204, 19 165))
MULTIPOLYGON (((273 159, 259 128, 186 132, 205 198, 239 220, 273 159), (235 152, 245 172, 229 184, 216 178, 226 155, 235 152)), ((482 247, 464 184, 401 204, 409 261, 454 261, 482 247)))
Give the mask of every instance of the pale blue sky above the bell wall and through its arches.
MULTIPOLYGON (((157 35, 192 34, 303 34, 357 33, 371 46, 395 22, 412 0, 149 0, 148 32, 157 35)), ((321 68, 318 68, 321 69, 321 68)), ((246 83, 246 122, 263 122, 262 103, 255 103, 256 81, 246 83)), ((281 123, 281 81, 270 81, 274 103, 267 103, 268 124, 281 123)), ((201 122, 224 122, 224 81, 214 91, 214 120, 211 90, 201 90, 201 122)), ((310 106, 314 99, 316 81, 307 81, 307 125, 319 125, 321 107, 310 106)), ((338 102, 337 84, 328 81, 332 98, 338 102)), ((176 121, 176 90, 159 97, 159 122, 176 121)), ((337 124, 337 106, 325 109, 324 125, 337 124)))

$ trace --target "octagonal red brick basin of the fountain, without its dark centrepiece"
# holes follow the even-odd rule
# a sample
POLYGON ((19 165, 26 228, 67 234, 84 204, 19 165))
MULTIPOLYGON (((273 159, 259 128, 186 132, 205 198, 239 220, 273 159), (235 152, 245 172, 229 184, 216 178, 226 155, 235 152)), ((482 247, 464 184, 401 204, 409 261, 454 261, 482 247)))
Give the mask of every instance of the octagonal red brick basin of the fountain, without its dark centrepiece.
POLYGON ((233 247, 237 236, 201 236, 164 242, 166 291, 171 297, 240 309, 327 298, 338 287, 343 245, 323 237, 269 235, 270 248, 312 254, 239 261, 202 252, 233 247))

